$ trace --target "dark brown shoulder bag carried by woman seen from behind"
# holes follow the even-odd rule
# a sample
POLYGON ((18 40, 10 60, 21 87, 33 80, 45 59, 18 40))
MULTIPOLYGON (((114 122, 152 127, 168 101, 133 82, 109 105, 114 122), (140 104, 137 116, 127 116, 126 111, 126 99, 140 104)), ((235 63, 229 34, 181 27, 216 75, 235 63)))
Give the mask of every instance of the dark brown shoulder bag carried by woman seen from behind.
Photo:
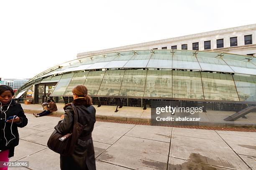
POLYGON ((84 130, 84 127, 86 126, 77 122, 77 109, 73 103, 71 103, 71 106, 74 110, 73 131, 66 135, 62 135, 61 133, 58 133, 56 130, 54 130, 47 142, 47 146, 49 147, 49 149, 64 156, 72 155, 72 153, 74 153, 74 145, 77 143, 77 139, 79 138, 82 131, 84 130))

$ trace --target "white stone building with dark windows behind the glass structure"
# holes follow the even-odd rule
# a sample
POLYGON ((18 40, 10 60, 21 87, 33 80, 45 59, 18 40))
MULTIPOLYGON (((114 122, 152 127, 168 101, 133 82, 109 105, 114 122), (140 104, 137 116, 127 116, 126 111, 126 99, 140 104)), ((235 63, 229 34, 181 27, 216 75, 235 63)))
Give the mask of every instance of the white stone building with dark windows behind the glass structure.
POLYGON ((200 50, 256 56, 256 24, 82 52, 77 58, 130 50, 200 50))

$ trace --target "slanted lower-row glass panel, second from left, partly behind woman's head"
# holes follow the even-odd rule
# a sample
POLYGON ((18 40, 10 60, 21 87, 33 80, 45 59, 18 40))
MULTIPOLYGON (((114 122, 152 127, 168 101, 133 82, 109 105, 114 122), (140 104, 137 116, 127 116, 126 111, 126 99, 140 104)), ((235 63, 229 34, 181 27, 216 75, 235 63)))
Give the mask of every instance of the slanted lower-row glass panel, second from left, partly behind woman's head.
POLYGON ((88 73, 89 71, 74 73, 74 76, 72 77, 72 80, 69 82, 69 85, 66 91, 64 92, 64 95, 72 96, 72 89, 77 85, 83 85, 88 73))

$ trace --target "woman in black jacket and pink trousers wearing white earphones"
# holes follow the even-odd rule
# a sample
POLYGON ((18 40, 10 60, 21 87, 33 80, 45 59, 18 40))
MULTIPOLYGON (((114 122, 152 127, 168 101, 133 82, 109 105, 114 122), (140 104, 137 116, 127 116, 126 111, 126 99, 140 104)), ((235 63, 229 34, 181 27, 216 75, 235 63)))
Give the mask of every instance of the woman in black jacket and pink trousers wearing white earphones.
MULTIPOLYGON (((13 100, 13 89, 0 85, 0 163, 8 162, 14 155, 14 147, 19 144, 18 127, 28 124, 28 119, 20 103, 13 100)), ((3 167, 3 165, 0 165, 3 167)), ((8 167, 0 168, 7 170, 8 167)))

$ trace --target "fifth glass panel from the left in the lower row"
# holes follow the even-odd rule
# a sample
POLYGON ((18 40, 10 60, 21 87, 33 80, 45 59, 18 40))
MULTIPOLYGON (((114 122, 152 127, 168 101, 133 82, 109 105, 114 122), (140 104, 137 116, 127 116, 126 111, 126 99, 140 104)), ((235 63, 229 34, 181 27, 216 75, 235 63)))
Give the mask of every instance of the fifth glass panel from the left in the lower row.
POLYGON ((125 70, 120 96, 143 97, 147 70, 125 70))

